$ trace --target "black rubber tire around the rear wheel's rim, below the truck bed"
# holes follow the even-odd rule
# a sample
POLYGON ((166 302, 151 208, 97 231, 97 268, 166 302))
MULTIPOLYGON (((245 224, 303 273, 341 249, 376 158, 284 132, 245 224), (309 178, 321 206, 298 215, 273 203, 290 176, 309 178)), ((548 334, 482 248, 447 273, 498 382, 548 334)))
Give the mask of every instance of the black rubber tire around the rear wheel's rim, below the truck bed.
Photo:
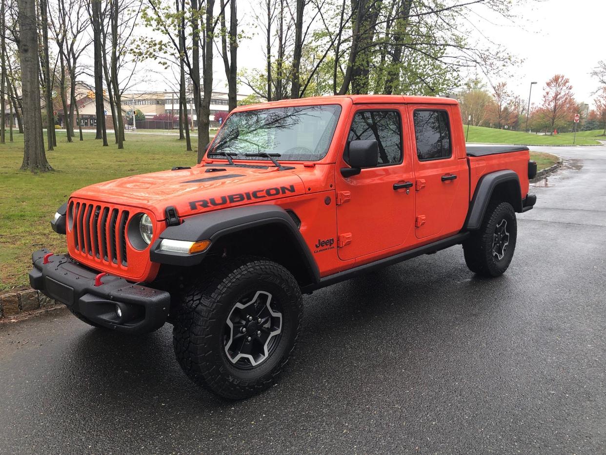
POLYGON ((471 237, 463 243, 467 267, 470 271, 482 277, 498 277, 504 274, 511 263, 511 258, 513 258, 517 235, 516 212, 511 204, 508 202, 491 202, 486 209, 480 229, 471 232, 471 237), (505 220, 507 226, 508 244, 503 257, 498 259, 493 252, 493 240, 497 226, 503 220, 505 220))

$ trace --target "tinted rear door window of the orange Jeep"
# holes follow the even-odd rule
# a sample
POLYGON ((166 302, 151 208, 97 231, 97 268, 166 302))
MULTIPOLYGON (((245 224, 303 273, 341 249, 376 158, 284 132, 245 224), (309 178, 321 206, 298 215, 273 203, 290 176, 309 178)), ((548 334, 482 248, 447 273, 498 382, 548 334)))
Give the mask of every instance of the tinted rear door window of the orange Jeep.
POLYGON ((419 161, 450 158, 448 113, 445 110, 415 110, 413 119, 419 161))

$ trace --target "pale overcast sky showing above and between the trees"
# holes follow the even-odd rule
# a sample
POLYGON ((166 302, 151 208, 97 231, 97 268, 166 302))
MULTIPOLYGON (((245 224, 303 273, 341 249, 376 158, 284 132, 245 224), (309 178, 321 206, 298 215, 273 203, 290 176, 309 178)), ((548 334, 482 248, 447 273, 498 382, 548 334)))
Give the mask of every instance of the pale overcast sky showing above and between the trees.
MULTIPOLYGON (((238 52, 239 70, 250 67, 263 67, 263 38, 259 30, 253 28, 250 8, 258 0, 239 2, 239 15, 244 15, 248 23, 241 24, 251 38, 241 43, 238 52)), ((591 70, 599 60, 606 59, 604 36, 606 34, 604 0, 539 0, 519 5, 513 11, 518 21, 508 22, 491 17, 482 7, 477 8, 475 20, 479 30, 487 38, 507 47, 510 53, 523 59, 513 78, 507 78, 510 90, 528 99, 531 81, 538 84, 533 87, 532 100, 541 100, 542 90, 551 76, 562 73, 570 78, 574 94, 578 101, 590 104, 592 93, 598 88, 598 81, 590 76, 591 70), (482 16, 480 16, 482 15, 482 16)), ((473 32, 476 38, 483 39, 481 33, 473 32)), ((147 65, 153 65, 148 62, 147 65)), ((158 68, 158 71, 161 69, 158 68)), ((215 89, 225 90, 225 76, 220 59, 215 61, 215 89)), ((473 74, 471 74, 473 75, 473 74)), ((158 89, 162 84, 161 76, 150 76, 136 90, 158 89)), ((494 78, 498 81, 499 78, 494 78)), ((167 90, 170 90, 167 87, 167 90)), ((240 86, 241 93, 250 93, 240 86)))

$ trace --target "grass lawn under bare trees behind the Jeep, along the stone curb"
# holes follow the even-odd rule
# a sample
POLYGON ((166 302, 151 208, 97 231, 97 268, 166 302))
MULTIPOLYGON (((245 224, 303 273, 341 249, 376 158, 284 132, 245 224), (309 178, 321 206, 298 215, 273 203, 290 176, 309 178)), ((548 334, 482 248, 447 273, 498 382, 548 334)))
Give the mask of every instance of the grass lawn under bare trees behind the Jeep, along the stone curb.
MULTIPOLYGON (((45 246, 65 252, 65 238, 50 228, 57 207, 76 189, 100 181, 142 174, 173 166, 196 164, 184 141, 170 135, 126 133, 125 149, 102 147, 93 133, 67 143, 57 136, 57 148, 47 152, 56 169, 45 174, 18 170, 23 159, 23 135, 0 146, 0 291, 28 284, 31 254, 45 246)), ((531 153, 539 169, 558 161, 548 153, 531 153)))

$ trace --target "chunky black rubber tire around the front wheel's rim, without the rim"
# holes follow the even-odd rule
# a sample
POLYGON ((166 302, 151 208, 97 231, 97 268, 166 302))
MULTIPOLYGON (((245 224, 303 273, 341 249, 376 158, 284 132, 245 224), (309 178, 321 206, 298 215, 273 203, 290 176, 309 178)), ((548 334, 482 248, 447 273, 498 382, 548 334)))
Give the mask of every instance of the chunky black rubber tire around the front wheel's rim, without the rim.
POLYGON ((260 257, 228 261, 210 278, 186 286, 175 311, 173 346, 179 365, 196 384, 226 399, 267 389, 295 348, 302 319, 301 290, 283 266, 260 257), (235 304, 251 291, 270 292, 282 311, 282 332, 273 352, 243 370, 228 359, 225 325, 235 304))

